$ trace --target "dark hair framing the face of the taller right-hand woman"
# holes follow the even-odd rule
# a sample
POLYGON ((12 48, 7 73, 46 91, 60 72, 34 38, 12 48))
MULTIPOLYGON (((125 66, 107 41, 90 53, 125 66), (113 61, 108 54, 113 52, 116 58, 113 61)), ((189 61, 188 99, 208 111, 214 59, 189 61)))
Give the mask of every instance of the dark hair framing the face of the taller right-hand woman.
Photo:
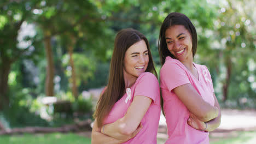
POLYGON ((167 49, 167 44, 166 44, 166 40, 165 40, 166 30, 169 27, 174 26, 174 25, 182 25, 189 31, 191 38, 192 38, 193 57, 195 56, 195 53, 196 53, 197 34, 196 34, 196 29, 195 29, 193 23, 184 14, 170 13, 167 15, 164 22, 162 22, 162 26, 160 28, 159 39, 158 39, 158 52, 159 52, 159 57, 160 57, 160 61, 161 61, 162 65, 164 65, 165 58, 167 56, 174 58, 173 55, 171 54, 171 52, 167 49))

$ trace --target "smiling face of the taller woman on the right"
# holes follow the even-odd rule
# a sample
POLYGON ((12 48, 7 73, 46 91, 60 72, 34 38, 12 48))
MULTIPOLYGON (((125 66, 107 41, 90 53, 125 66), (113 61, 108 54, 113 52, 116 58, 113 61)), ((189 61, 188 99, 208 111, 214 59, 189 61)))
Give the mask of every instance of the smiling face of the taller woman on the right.
POLYGON ((188 29, 182 25, 169 27, 165 32, 165 40, 168 50, 181 62, 193 58, 192 39, 188 29))

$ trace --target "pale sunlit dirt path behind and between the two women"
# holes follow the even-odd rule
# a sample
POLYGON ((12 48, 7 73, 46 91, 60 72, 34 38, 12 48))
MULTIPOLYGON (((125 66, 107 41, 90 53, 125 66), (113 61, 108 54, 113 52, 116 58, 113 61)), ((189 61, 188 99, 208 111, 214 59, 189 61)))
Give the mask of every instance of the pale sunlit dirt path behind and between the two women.
MULTIPOLYGON (((256 130, 256 110, 222 110, 222 123, 210 133, 210 141, 236 137, 239 131, 256 130)), ((158 144, 164 143, 168 136, 165 117, 161 115, 158 129, 158 144)))

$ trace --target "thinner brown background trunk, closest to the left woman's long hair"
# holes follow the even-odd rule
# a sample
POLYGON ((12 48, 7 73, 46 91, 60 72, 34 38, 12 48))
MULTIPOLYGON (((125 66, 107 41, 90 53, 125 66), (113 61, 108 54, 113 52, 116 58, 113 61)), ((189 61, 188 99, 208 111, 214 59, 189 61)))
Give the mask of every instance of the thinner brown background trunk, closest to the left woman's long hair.
POLYGON ((71 81, 72 81, 72 93, 75 97, 75 99, 78 98, 78 90, 77 90, 77 81, 75 76, 75 67, 74 67, 74 61, 73 61, 73 50, 75 46, 75 38, 73 35, 71 35, 71 44, 68 45, 68 54, 69 54, 69 63, 71 65, 72 71, 71 71, 71 81))

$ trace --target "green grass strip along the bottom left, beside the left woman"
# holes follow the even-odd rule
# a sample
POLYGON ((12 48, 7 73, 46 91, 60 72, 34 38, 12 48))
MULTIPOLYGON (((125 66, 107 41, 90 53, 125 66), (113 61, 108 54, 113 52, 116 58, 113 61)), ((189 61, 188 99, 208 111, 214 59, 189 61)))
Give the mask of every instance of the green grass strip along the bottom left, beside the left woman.
POLYGON ((91 139, 77 134, 24 134, 14 136, 0 136, 2 144, 90 144, 91 139))

